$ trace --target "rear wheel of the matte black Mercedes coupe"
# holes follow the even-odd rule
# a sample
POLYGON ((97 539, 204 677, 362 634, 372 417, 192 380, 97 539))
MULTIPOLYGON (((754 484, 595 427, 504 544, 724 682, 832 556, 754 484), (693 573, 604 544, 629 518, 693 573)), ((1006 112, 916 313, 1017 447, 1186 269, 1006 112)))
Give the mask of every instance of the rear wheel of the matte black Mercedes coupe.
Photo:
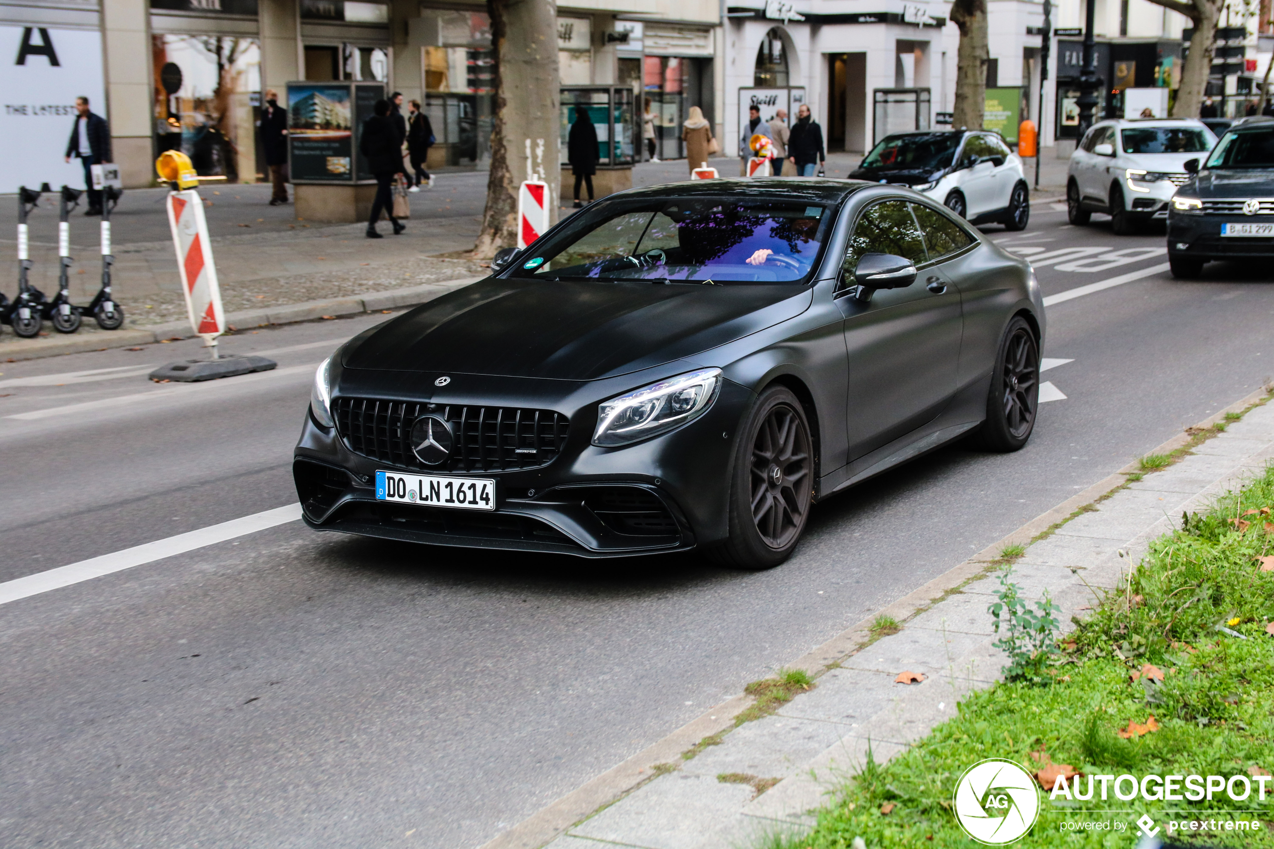
POLYGON ((1040 409, 1040 344, 1022 316, 1009 322, 976 438, 987 451, 1018 451, 1031 439, 1040 409))

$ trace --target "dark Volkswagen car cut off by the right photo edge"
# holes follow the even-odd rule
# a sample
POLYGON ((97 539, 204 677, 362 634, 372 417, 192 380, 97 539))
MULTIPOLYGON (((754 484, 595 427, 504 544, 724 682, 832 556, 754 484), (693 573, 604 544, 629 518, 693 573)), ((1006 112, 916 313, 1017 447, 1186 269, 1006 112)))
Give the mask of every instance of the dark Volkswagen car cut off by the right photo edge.
POLYGON ((1168 262, 1198 277, 1213 260, 1274 258, 1274 118, 1242 118, 1203 159, 1168 209, 1168 262))

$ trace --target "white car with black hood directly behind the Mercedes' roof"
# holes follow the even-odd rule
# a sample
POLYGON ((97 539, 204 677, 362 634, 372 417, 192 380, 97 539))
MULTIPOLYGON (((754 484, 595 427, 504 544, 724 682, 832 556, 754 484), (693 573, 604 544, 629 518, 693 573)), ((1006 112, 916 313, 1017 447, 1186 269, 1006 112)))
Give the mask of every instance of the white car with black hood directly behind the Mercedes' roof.
POLYGON ((994 132, 935 130, 885 136, 850 179, 911 186, 971 224, 1026 229, 1031 190, 1022 160, 994 132))

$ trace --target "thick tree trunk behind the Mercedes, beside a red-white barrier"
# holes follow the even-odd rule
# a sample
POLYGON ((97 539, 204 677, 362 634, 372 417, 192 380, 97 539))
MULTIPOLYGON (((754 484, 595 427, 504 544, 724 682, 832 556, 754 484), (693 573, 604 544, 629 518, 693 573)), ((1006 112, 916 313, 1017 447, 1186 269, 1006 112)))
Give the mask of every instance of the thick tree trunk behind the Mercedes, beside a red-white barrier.
POLYGON ((487 0, 496 48, 496 102, 487 209, 474 257, 517 244, 517 188, 530 173, 549 185, 557 219, 562 169, 555 0, 487 0))

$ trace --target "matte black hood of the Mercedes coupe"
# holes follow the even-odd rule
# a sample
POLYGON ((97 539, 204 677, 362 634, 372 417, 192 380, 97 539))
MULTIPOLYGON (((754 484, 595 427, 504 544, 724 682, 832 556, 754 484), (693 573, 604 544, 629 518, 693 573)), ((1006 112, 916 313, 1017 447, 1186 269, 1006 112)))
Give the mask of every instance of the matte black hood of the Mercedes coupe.
POLYGON ((489 277, 352 340, 353 369, 592 381, 734 341, 809 308, 809 286, 489 277))

